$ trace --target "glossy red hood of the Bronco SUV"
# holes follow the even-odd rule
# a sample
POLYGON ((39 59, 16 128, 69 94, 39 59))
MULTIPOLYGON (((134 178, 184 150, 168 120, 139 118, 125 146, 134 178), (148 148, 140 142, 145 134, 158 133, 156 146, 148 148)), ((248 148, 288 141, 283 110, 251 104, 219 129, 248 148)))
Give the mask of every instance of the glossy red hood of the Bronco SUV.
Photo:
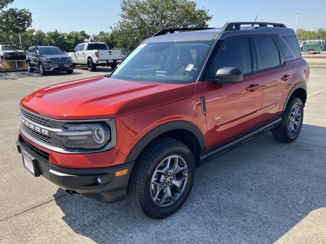
POLYGON ((103 76, 53 84, 23 98, 21 105, 55 119, 112 118, 193 95, 195 83, 165 84, 103 76))

